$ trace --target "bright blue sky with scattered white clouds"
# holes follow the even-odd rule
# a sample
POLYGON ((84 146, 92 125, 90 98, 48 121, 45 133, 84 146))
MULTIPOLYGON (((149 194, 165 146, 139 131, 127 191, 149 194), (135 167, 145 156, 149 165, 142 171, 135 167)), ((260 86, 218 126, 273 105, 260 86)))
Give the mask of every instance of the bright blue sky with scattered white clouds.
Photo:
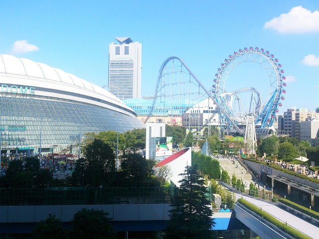
MULTIPOLYGON (((142 43, 142 96, 154 94, 160 66, 170 56, 183 59, 211 89, 229 54, 257 46, 274 54, 285 70, 287 93, 280 113, 319 107, 317 0, 0 3, 0 54, 45 63, 99 86, 107 84, 108 47, 116 36, 142 43)), ((237 79, 242 87, 267 84, 257 64, 240 67, 232 73, 230 85, 237 79), (255 80, 256 75, 260 79, 255 80)))

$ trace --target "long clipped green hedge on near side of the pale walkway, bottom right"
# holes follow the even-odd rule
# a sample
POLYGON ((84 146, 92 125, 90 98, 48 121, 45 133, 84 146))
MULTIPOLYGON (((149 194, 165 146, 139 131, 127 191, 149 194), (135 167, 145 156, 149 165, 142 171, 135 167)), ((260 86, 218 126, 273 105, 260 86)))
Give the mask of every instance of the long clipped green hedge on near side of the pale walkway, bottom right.
POLYGON ((266 221, 268 221, 271 224, 275 225, 277 228, 283 230, 285 233, 287 233, 290 236, 294 237, 295 239, 311 239, 310 237, 302 234, 301 232, 297 231, 296 229, 294 229, 294 228, 286 225, 285 223, 277 220, 276 218, 274 218, 270 214, 266 213, 265 211, 262 211, 260 208, 258 208, 255 205, 247 202, 244 199, 238 199, 237 202, 242 204, 243 206, 245 206, 249 210, 253 211, 254 213, 259 215, 260 217, 262 217, 266 221))

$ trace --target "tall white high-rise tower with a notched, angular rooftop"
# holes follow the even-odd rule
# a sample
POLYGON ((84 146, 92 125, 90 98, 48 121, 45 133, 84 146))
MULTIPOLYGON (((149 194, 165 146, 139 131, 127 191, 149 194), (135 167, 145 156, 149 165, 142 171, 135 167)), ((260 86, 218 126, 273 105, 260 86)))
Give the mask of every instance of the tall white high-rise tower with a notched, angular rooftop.
POLYGON ((141 98, 142 44, 115 37, 109 44, 109 92, 120 100, 141 98))

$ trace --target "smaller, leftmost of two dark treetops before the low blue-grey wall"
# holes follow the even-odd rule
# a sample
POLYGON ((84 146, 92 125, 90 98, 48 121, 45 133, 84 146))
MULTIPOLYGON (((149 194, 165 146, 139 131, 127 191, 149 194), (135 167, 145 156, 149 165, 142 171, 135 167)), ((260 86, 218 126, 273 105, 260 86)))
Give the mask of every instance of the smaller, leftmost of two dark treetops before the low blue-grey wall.
POLYGON ((32 231, 32 239, 68 239, 69 233, 63 228, 62 221, 49 214, 48 218, 36 224, 32 231))

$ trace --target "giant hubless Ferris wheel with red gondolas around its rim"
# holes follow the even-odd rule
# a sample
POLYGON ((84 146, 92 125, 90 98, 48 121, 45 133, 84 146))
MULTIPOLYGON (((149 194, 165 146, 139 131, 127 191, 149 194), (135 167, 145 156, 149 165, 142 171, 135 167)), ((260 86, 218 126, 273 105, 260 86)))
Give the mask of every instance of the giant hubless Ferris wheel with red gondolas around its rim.
MULTIPOLYGON (((220 119, 224 125, 232 128, 234 125, 246 124, 247 117, 254 117, 255 125, 260 128, 266 128, 273 125, 276 113, 279 112, 278 107, 282 106, 281 101, 285 100, 283 94, 287 86, 284 82, 286 77, 283 75, 285 71, 281 69, 282 65, 273 54, 263 48, 258 47, 239 49, 229 55, 228 58, 221 63, 218 72, 215 74, 212 93, 214 99, 221 109, 220 119), (267 96, 263 96, 265 101, 261 102, 260 93, 253 87, 241 88, 227 92, 229 84, 227 78, 230 72, 238 65, 244 62, 255 62, 264 68, 267 72, 268 83, 266 89, 267 96), (247 101, 241 101, 242 96, 247 101)), ((265 90, 265 89, 264 89, 265 90)))

